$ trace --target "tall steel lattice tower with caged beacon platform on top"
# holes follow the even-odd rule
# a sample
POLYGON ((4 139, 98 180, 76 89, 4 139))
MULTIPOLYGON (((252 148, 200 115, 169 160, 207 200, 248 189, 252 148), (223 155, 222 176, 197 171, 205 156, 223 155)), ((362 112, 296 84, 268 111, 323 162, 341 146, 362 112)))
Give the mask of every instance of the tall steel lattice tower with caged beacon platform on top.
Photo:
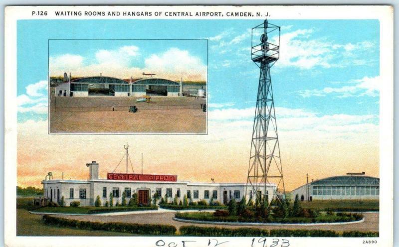
POLYGON ((255 195, 260 202, 263 196, 270 196, 266 190, 268 183, 275 183, 272 198, 277 196, 277 188, 282 185, 285 197, 283 170, 280 159, 276 115, 270 68, 279 59, 280 27, 270 24, 267 19, 252 28, 252 61, 260 68, 255 117, 253 121, 251 151, 248 166, 248 179, 245 195, 255 195), (271 37, 271 41, 268 38, 271 37), (260 38, 260 43, 258 43, 260 38), (256 42, 256 43, 254 43, 256 42))

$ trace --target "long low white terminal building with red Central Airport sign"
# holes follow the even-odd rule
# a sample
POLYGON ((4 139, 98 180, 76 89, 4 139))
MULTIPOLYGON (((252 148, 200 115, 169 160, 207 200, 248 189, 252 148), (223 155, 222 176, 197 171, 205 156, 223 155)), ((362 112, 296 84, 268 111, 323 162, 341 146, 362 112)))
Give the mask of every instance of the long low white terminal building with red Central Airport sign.
MULTIPOLYGON (((127 201, 137 193, 139 203, 143 205, 149 205, 155 193, 163 198, 167 195, 169 203, 175 195, 179 200, 183 200, 186 195, 189 201, 204 199, 209 203, 213 199, 226 205, 230 200, 240 201, 246 189, 246 183, 196 183, 179 181, 176 175, 107 173, 107 178, 101 179, 98 177, 99 164, 96 161, 86 166, 90 173, 88 180, 43 180, 44 196, 53 202, 59 202, 64 197, 65 206, 69 206, 72 201, 79 201, 81 206, 94 206, 97 196, 104 205, 105 201, 109 201, 110 193, 114 203, 121 203, 123 192, 127 201)), ((268 195, 273 195, 275 189, 275 184, 266 186, 268 195)), ((250 186, 248 191, 247 201, 255 195, 250 186)))

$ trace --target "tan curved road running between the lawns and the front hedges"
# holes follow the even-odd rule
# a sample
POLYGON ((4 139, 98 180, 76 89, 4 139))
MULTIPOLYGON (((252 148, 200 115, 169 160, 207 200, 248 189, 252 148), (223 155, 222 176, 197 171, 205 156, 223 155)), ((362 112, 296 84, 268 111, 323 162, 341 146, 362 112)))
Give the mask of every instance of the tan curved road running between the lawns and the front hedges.
MULTIPOLYGON (((348 224, 348 225, 331 225, 331 226, 228 226, 228 225, 217 225, 217 227, 223 228, 261 228, 261 229, 308 229, 308 230, 333 230, 336 232, 343 231, 361 231, 361 232, 378 232, 379 231, 379 213, 364 213, 365 221, 363 223, 348 224)), ((178 230, 181 226, 202 226, 202 227, 215 227, 212 224, 192 224, 174 221, 174 212, 167 213, 143 213, 143 214, 131 214, 131 215, 114 215, 114 216, 102 216, 102 215, 65 215, 56 216, 66 219, 75 219, 80 221, 93 221, 93 222, 124 222, 124 223, 138 223, 138 224, 164 224, 173 225, 178 230)))

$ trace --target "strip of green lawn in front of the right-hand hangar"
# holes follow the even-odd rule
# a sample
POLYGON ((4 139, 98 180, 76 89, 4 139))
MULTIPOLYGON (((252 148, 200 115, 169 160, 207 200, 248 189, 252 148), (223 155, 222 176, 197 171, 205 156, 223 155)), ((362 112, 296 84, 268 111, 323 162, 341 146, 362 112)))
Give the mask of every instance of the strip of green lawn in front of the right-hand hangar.
MULTIPOLYGON (((293 203, 293 202, 292 202, 293 203)), ((314 200, 312 202, 301 202, 302 208, 310 209, 356 209, 367 210, 367 211, 379 211, 380 202, 379 200, 314 200)))

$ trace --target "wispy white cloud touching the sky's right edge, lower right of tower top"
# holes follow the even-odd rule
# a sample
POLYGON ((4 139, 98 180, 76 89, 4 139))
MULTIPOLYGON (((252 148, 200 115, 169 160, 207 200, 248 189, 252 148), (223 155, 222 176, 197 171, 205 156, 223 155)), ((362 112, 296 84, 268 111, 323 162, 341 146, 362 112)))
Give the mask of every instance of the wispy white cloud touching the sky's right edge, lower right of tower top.
POLYGON ((324 97, 328 94, 334 94, 340 98, 353 96, 371 96, 377 97, 380 92, 380 76, 363 77, 359 80, 352 80, 342 87, 326 87, 323 89, 302 90, 299 94, 304 97, 319 96, 324 97))

